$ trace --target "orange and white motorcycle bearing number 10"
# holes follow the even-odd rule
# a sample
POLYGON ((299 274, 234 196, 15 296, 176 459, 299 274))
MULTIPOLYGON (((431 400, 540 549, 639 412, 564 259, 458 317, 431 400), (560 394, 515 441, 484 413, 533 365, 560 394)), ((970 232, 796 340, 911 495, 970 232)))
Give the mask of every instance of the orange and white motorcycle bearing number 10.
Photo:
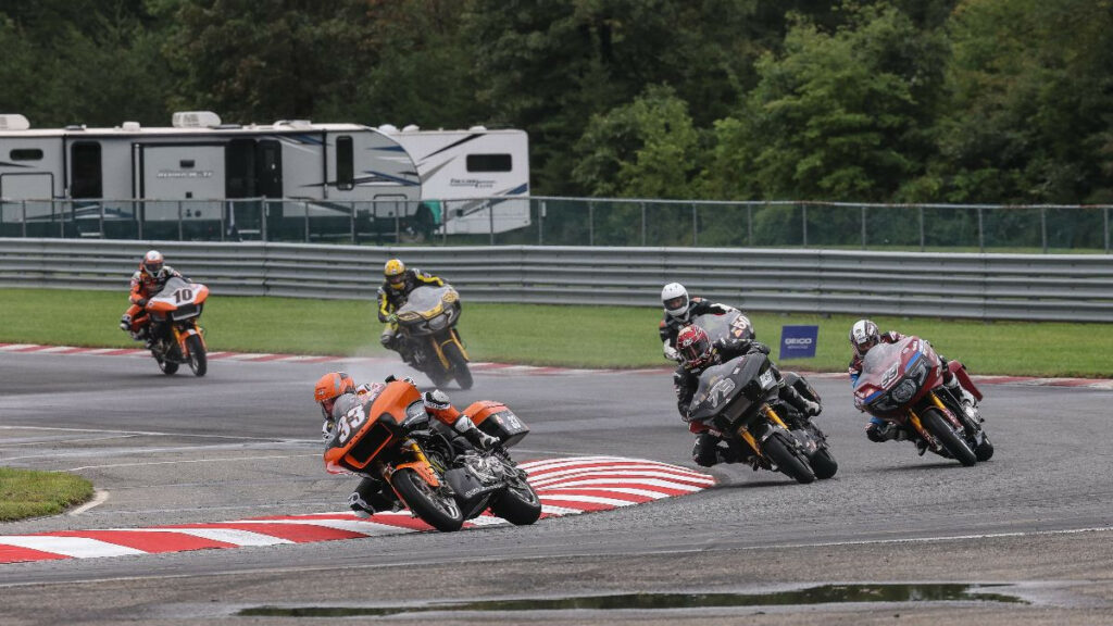
POLYGON ((207 286, 175 276, 147 301, 150 353, 162 373, 173 374, 183 363, 197 376, 208 371, 205 331, 197 324, 208 293, 207 286))

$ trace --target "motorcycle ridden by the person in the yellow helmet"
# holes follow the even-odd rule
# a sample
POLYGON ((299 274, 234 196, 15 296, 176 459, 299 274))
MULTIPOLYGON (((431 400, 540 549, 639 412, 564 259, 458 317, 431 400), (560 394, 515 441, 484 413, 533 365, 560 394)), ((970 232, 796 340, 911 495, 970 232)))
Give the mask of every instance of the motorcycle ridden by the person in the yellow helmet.
POLYGON ((436 387, 456 379, 460 389, 472 388, 467 351, 460 341, 460 294, 451 285, 421 286, 410 293, 397 313, 398 353, 411 368, 436 387))

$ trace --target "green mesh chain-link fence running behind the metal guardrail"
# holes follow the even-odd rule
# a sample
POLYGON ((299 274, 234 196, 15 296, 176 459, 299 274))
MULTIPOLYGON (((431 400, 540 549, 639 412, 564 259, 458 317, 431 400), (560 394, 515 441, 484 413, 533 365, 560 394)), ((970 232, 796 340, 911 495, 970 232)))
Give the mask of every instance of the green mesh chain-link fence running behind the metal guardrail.
POLYGON ((1110 253, 1110 205, 540 196, 454 200, 0 199, 0 236, 362 245, 1110 253))

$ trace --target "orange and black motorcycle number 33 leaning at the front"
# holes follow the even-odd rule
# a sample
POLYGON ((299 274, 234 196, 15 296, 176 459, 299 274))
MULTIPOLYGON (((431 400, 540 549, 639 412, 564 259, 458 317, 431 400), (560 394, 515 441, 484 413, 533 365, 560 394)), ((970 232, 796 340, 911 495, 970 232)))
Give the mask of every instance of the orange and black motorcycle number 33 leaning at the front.
POLYGON ((541 517, 541 500, 506 451, 529 428, 498 402, 475 402, 464 414, 500 444, 460 451, 452 443, 459 434, 432 422, 414 385, 390 382, 337 418, 325 469, 381 476, 391 497, 441 531, 459 530, 487 509, 516 526, 533 524, 541 517))

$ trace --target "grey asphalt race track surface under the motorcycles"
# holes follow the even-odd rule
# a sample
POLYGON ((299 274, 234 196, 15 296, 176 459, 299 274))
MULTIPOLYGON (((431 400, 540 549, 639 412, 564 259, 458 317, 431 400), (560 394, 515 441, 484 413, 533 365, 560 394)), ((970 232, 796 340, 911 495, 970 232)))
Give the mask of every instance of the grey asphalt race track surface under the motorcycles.
MULTIPOLYGON (((215 361, 198 380, 164 376, 145 359, 2 354, 0 463, 76 471, 108 496, 79 515, 0 525, 0 534, 341 510, 354 479, 324 472, 309 391, 334 368, 357 380, 401 370, 387 362, 215 361)), ((0 588, 8 613, 0 622, 37 623, 86 607, 81 615, 90 622, 197 616, 236 624, 247 619, 232 616, 236 607, 430 597, 431 588, 397 588, 400 576, 447 580, 439 594, 459 599, 847 580, 1022 580, 1044 589, 1034 606, 958 603, 948 605, 951 613, 900 613, 935 624, 951 615, 969 617, 969 610, 984 613, 979 618, 987 623, 1054 616, 1052 622, 1085 624, 1113 615, 1106 608, 1113 598, 1113 534, 1087 530, 1113 525, 1113 392, 987 387, 983 410, 997 454, 962 468, 917 457, 910 443, 867 441, 846 382, 812 382, 824 397, 818 423, 840 463, 829 481, 800 486, 779 473, 717 467, 720 486, 696 496, 525 528, 6 565, 0 588), (346 591, 321 583, 344 576, 395 583, 346 591), (1063 590, 1080 583, 1090 590, 1063 590), (43 613, 35 598, 59 584, 68 599, 55 607, 57 615, 43 613), (137 595, 137 588, 145 591, 137 595)), ((447 391, 457 405, 498 399, 526 420, 532 432, 514 449, 520 460, 615 454, 693 467, 691 436, 676 414, 663 371, 481 373, 475 389, 447 391)), ((855 606, 856 623, 893 618, 890 607, 855 606)), ((785 610, 762 619, 801 620, 802 614, 785 610)), ((846 609, 830 610, 849 617, 846 609)), ((634 613, 629 618, 639 623, 657 618, 634 613)), ((500 619, 467 615, 457 617, 500 619)), ((549 622, 567 619, 560 612, 545 615, 549 622)), ((626 615, 588 612, 569 623, 626 615)), ((739 614, 705 608, 661 619, 709 624, 726 616, 729 623, 731 615, 739 614)), ((814 608, 807 615, 830 622, 814 608)))

